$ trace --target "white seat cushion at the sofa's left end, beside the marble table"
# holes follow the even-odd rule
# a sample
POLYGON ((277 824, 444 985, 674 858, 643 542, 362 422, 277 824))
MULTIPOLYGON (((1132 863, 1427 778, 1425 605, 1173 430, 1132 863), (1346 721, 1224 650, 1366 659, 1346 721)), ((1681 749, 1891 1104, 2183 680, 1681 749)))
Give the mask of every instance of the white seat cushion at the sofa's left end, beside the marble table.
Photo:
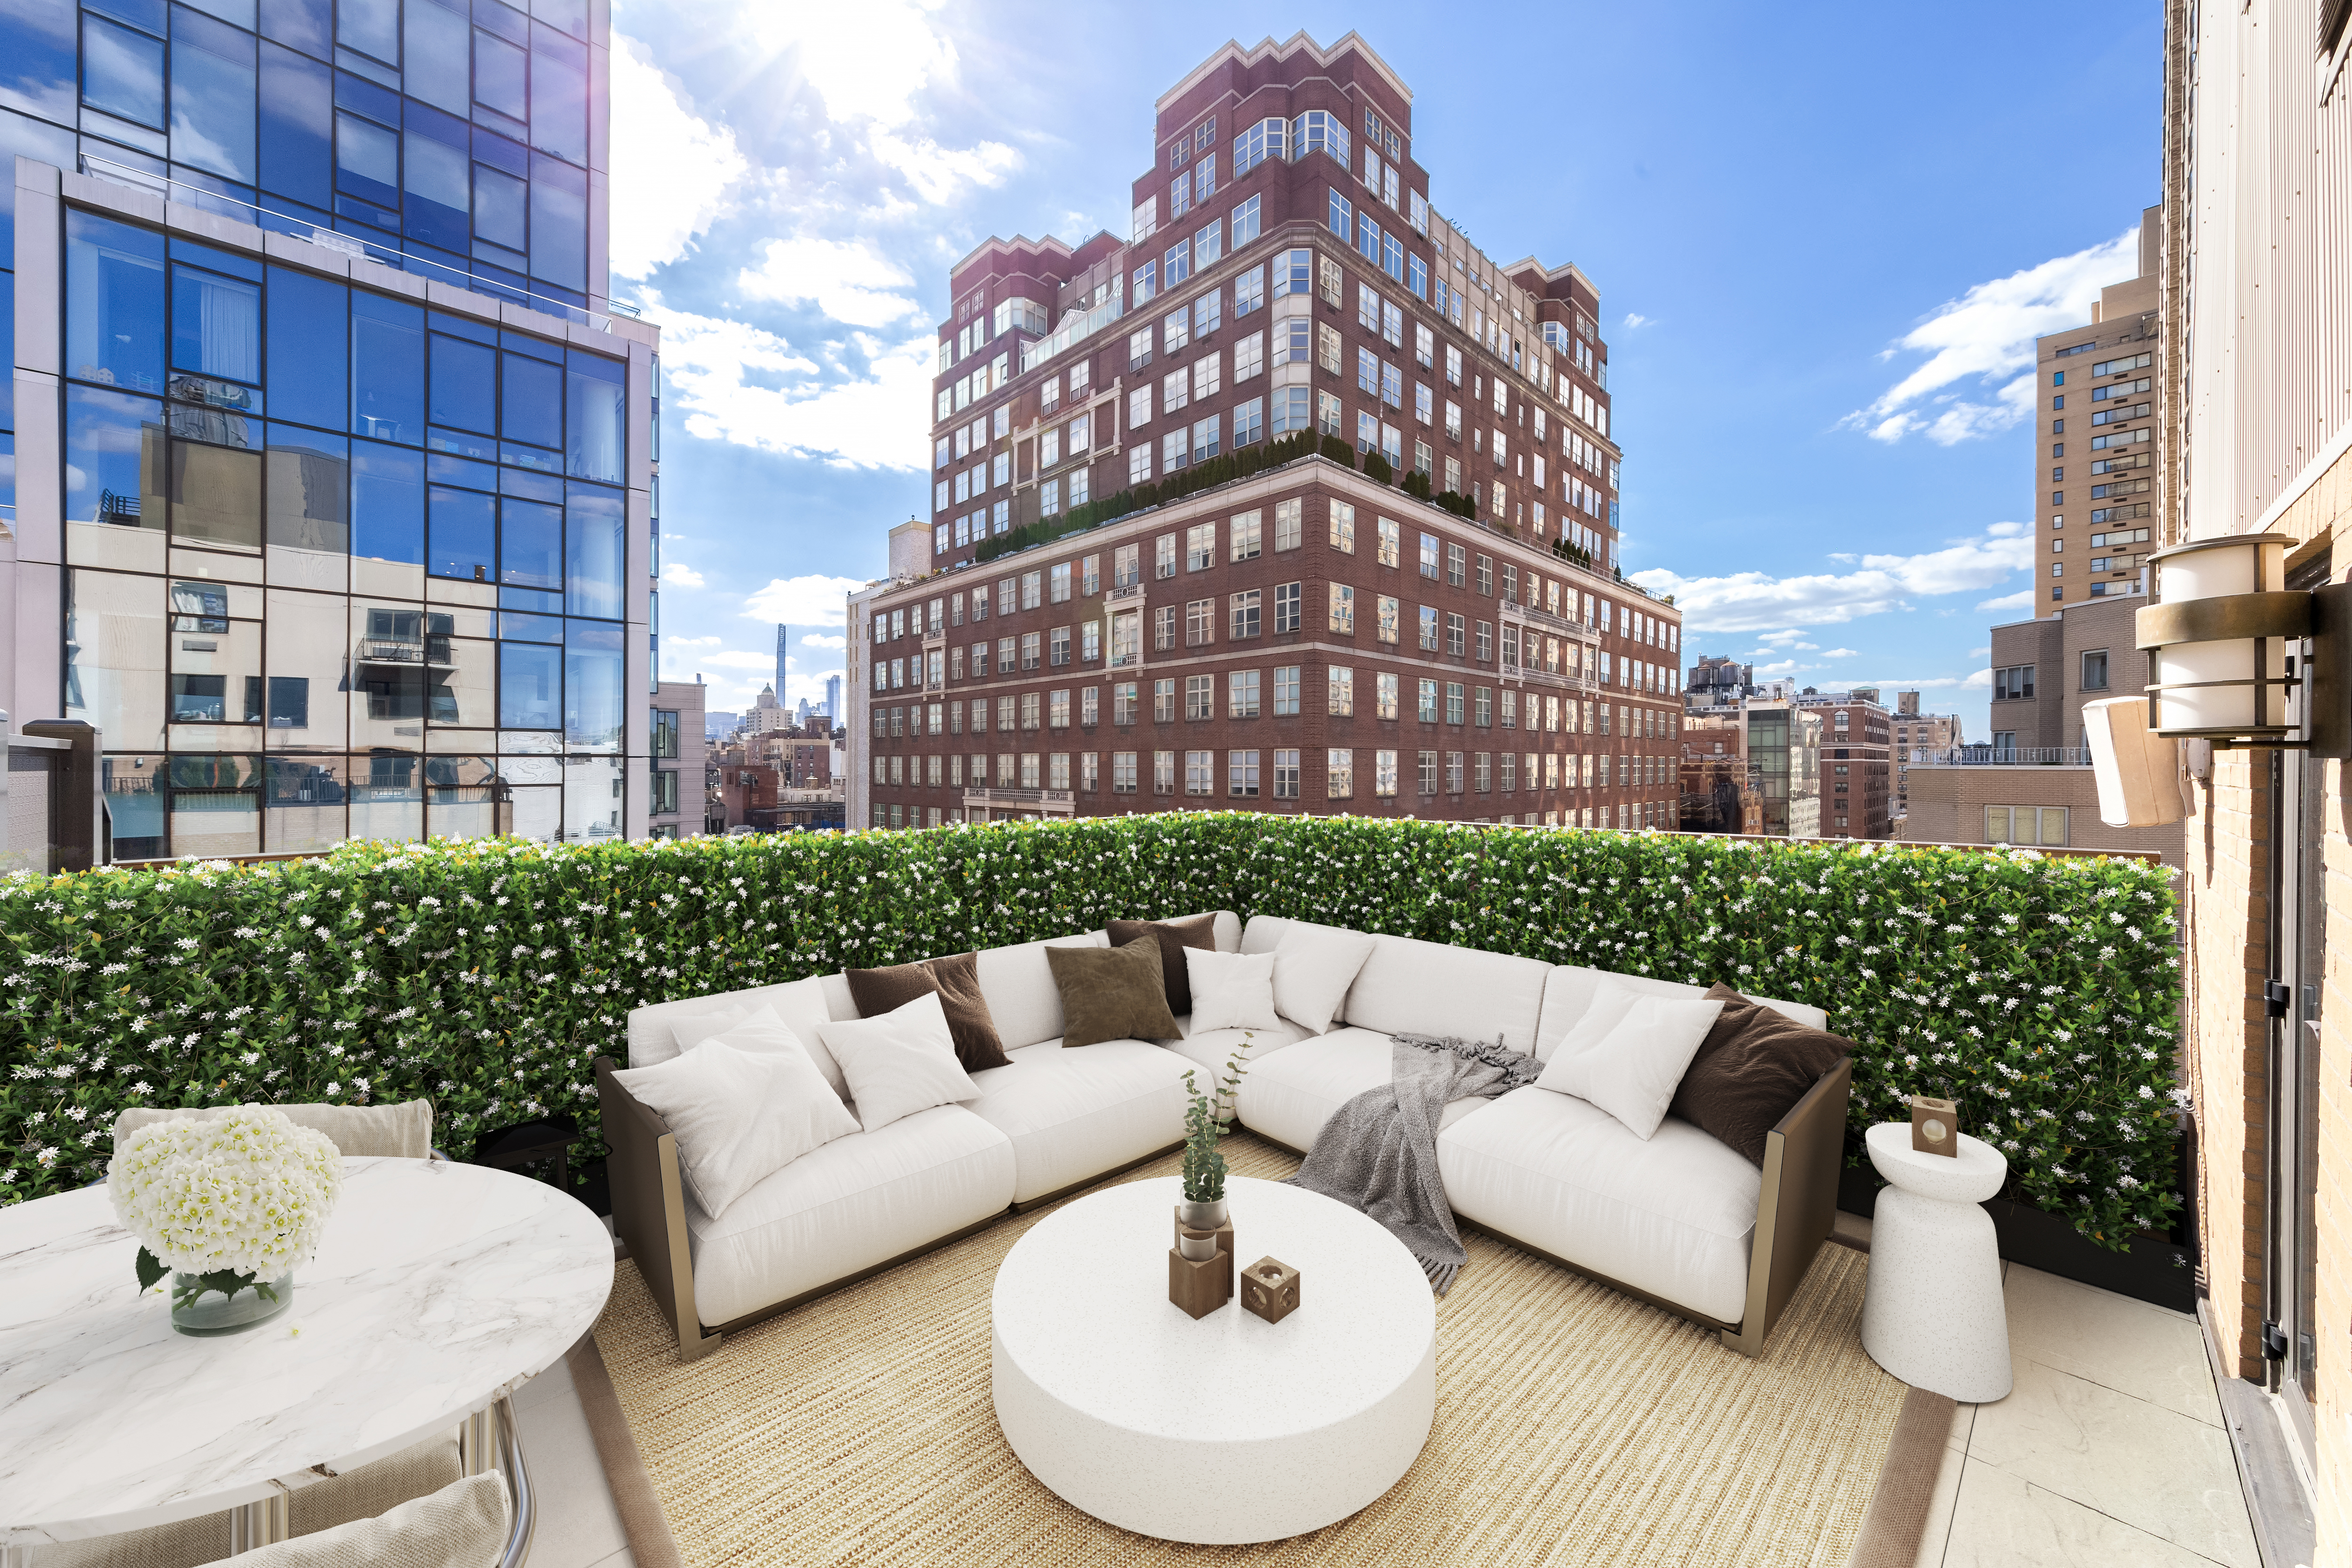
POLYGON ((1014 1147, 960 1105, 835 1138, 739 1197, 722 1220, 687 1199, 694 1307, 724 1324, 1002 1213, 1014 1147))

